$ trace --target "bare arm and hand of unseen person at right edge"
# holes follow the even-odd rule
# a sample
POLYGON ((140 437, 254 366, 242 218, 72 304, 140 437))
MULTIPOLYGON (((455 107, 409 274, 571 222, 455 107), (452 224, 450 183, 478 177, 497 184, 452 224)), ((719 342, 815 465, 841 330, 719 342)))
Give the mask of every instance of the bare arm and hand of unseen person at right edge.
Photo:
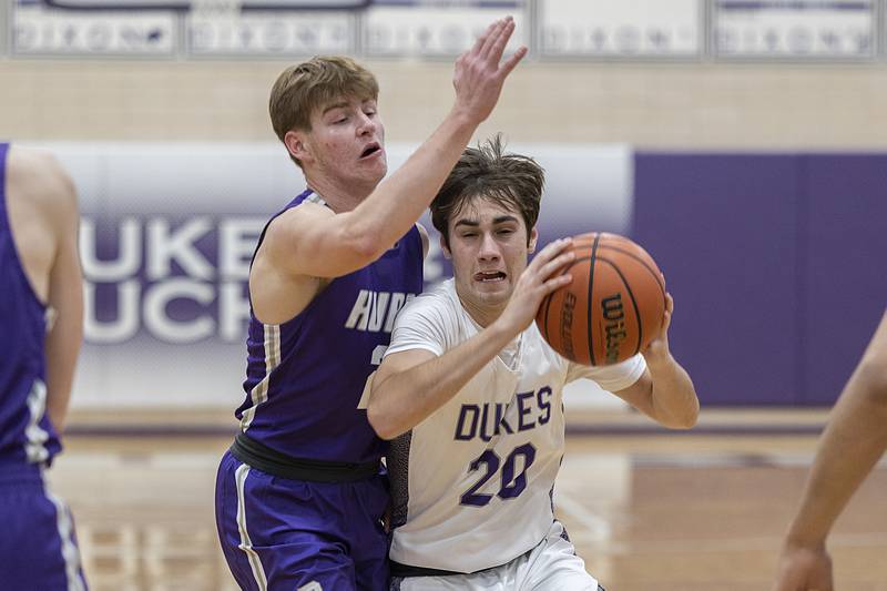
POLYGON ((819 440, 786 536, 776 591, 833 589, 832 526, 887 449, 887 312, 844 387, 819 440))

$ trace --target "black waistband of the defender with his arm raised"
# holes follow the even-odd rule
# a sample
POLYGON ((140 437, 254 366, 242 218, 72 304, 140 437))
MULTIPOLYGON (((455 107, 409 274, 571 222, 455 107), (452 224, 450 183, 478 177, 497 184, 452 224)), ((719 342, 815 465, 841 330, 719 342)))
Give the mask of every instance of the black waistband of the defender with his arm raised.
POLYGON ((379 472, 379 462, 354 463, 294 458, 271 449, 243 432, 234 436, 231 454, 242 462, 269 475, 309 482, 355 482, 379 472))

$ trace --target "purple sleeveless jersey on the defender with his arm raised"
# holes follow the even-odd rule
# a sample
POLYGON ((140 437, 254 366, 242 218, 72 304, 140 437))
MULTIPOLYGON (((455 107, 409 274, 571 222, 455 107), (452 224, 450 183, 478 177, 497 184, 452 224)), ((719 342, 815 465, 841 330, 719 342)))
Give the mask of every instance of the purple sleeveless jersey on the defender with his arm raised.
MULTIPOLYGON (((284 211, 304 201, 323 203, 309 190, 284 211)), ((297 458, 378 460, 384 442, 357 406, 395 316, 421 287, 422 246, 414 226, 378 261, 333 279, 294 318, 267 325, 251 310, 241 429, 297 458)))

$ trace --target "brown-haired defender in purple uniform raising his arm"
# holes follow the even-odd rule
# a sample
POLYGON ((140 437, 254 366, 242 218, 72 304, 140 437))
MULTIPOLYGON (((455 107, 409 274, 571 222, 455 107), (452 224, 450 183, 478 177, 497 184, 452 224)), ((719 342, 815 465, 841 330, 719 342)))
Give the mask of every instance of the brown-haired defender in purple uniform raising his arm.
POLYGON ((394 317, 422 285, 431 202, 504 79, 511 18, 456 62, 456 99, 385 182, 376 79, 347 58, 285 70, 271 95, 277 136, 307 190, 268 222, 249 272, 246 399, 216 479, 216 523, 243 589, 388 587, 386 448, 361 406, 394 317))

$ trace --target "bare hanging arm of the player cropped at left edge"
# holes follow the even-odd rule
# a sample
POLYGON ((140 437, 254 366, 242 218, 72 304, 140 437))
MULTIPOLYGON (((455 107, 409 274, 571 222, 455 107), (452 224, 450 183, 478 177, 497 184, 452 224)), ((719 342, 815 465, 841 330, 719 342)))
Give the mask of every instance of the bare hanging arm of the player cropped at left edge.
POLYGON ((80 215, 71 179, 54 160, 45 176, 52 192, 48 218, 58 236, 58 246, 49 276, 49 305, 55 323, 45 337, 47 411, 55 429, 64 429, 74 366, 83 338, 83 276, 80 268, 78 231, 80 215))

